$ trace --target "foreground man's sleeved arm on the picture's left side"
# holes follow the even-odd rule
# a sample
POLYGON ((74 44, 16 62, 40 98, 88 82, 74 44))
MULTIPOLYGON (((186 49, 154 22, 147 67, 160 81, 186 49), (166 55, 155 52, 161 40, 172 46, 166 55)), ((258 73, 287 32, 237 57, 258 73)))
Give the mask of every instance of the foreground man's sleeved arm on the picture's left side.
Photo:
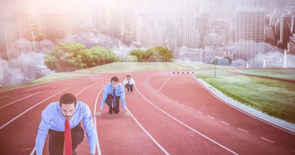
POLYGON ((42 111, 41 123, 39 125, 38 134, 35 141, 36 155, 42 155, 45 138, 48 135, 48 130, 52 121, 51 109, 47 108, 42 111))

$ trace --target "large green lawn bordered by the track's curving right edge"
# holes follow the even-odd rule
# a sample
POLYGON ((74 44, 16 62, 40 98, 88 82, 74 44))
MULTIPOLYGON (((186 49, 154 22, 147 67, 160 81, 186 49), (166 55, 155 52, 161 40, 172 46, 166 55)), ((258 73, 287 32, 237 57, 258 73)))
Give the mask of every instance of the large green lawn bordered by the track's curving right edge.
POLYGON ((295 83, 251 76, 198 76, 228 97, 295 123, 295 83))

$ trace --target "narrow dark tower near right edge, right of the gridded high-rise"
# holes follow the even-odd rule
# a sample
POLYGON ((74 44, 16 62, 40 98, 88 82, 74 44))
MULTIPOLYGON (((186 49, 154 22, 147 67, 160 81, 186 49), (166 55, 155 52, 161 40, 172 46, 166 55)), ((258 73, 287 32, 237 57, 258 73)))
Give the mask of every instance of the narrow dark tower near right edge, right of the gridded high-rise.
POLYGON ((280 42, 284 49, 287 49, 287 45, 291 36, 291 25, 292 25, 292 16, 290 14, 282 14, 281 16, 281 36, 280 42))

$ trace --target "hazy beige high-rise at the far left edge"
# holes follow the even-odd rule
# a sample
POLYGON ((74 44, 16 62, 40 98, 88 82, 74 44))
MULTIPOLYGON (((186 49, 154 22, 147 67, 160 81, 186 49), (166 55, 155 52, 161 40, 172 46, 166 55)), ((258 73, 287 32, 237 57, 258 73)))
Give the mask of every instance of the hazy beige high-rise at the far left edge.
POLYGON ((27 78, 33 78, 33 66, 27 54, 36 52, 34 31, 26 11, 11 10, 0 17, 0 57, 8 67, 20 69, 27 78), (16 60, 19 56, 21 60, 16 60))

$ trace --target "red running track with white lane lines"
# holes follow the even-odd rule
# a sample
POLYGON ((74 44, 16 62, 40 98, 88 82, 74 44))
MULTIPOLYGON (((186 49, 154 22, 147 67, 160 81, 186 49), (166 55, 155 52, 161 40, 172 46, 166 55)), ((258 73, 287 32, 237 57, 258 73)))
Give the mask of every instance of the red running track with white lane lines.
MULTIPOLYGON (((182 70, 187 72, 187 70, 182 70)), ((92 114, 112 76, 136 80, 126 93, 131 117, 95 116, 96 155, 295 155, 295 133, 274 127, 215 98, 189 74, 170 71, 101 74, 0 92, 0 155, 35 155, 42 110, 63 93, 76 95, 92 114)), ((88 139, 78 146, 89 155, 88 139)), ((48 153, 48 137, 43 155, 48 153)))

